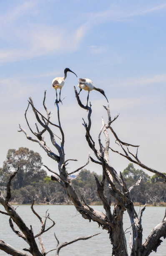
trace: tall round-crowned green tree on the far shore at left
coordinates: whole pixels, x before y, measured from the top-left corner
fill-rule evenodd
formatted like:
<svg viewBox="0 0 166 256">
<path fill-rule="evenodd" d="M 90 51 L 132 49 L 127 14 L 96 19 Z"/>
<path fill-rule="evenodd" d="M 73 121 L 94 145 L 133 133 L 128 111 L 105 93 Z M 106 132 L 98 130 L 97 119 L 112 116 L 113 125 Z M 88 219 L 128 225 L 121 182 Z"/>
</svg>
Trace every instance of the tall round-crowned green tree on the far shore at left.
<svg viewBox="0 0 166 256">
<path fill-rule="evenodd" d="M 3 168 L 0 171 L 0 185 L 6 184 L 9 175 L 14 172 L 18 166 L 19 172 L 13 179 L 12 188 L 20 189 L 27 185 L 43 180 L 47 173 L 41 169 L 42 158 L 39 153 L 29 150 L 28 148 L 19 148 L 18 150 L 9 149 Z"/>
</svg>

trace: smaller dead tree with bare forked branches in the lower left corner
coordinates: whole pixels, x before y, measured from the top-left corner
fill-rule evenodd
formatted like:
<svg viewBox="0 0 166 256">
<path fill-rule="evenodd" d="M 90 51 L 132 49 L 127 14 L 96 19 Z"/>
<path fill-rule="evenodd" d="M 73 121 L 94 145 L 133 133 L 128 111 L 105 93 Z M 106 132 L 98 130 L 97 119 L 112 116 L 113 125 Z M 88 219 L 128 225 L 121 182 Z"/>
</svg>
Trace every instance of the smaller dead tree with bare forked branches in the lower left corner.
<svg viewBox="0 0 166 256">
<path fill-rule="evenodd" d="M 50 218 L 49 213 L 46 211 L 45 213 L 45 220 L 43 220 L 40 215 L 38 215 L 38 213 L 34 210 L 33 205 L 34 205 L 34 199 L 32 200 L 32 205 L 31 205 L 31 210 L 34 213 L 34 215 L 39 219 L 40 224 L 41 224 L 41 228 L 38 232 L 38 234 L 34 235 L 33 233 L 33 228 L 30 225 L 30 228 L 28 228 L 23 219 L 20 218 L 20 216 L 18 215 L 16 209 L 10 205 L 9 200 L 11 198 L 11 193 L 10 193 L 10 184 L 12 179 L 15 177 L 15 175 L 19 172 L 19 167 L 18 170 L 16 172 L 14 172 L 9 180 L 8 180 L 8 184 L 7 184 L 7 194 L 6 197 L 3 197 L 2 193 L 0 192 L 0 203 L 4 206 L 5 208 L 5 212 L 0 211 L 1 214 L 4 215 L 8 215 L 9 216 L 9 224 L 10 224 L 10 228 L 13 230 L 13 232 L 20 238 L 23 238 L 23 240 L 28 243 L 28 248 L 23 248 L 23 251 L 27 251 L 29 253 L 31 253 L 33 256 L 46 256 L 48 255 L 48 253 L 50 253 L 51 251 L 56 251 L 56 256 L 59 256 L 59 251 L 61 248 L 68 246 L 71 243 L 75 243 L 79 240 L 87 240 L 89 238 L 92 238 L 93 236 L 97 236 L 100 233 L 91 235 L 91 236 L 83 236 L 83 237 L 78 237 L 73 239 L 72 241 L 68 241 L 62 244 L 59 244 L 58 238 L 54 236 L 58 242 L 57 247 L 54 249 L 49 250 L 48 252 L 45 251 L 45 247 L 43 245 L 43 241 L 42 241 L 42 235 L 43 233 L 47 232 L 48 230 L 50 230 L 51 228 L 54 227 L 55 222 Z M 47 220 L 51 220 L 52 221 L 52 225 L 50 225 L 50 227 L 46 228 L 46 222 Z M 15 223 L 15 225 L 19 228 L 19 230 L 17 230 L 15 228 L 15 226 L 13 225 L 13 223 Z M 35 241 L 35 238 L 38 238 L 39 244 L 40 244 L 40 249 L 38 248 L 38 245 Z M 18 250 L 17 248 L 14 248 L 13 246 L 10 246 L 8 243 L 5 243 L 4 241 L 0 240 L 0 250 L 13 255 L 13 256 L 29 256 L 30 254 L 27 254 L 23 251 Z"/>
</svg>

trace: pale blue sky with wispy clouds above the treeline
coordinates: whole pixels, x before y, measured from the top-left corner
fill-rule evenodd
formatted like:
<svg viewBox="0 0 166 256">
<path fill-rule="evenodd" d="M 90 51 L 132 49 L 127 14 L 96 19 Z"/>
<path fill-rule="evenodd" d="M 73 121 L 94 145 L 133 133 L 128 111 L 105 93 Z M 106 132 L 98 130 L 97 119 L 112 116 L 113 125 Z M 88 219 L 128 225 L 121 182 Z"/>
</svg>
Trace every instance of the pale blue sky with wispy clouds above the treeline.
<svg viewBox="0 0 166 256">
<path fill-rule="evenodd" d="M 18 130 L 20 124 L 31 135 L 24 117 L 28 97 L 44 113 L 45 90 L 51 121 L 57 123 L 52 80 L 63 77 L 66 67 L 104 90 L 111 116 L 120 113 L 113 123 L 118 137 L 140 145 L 138 158 L 143 164 L 166 172 L 165 0 L 0 1 L 1 167 L 9 148 L 28 147 L 40 153 L 43 164 L 58 171 L 56 162 Z M 93 157 L 82 125 L 87 112 L 78 106 L 73 90 L 78 78 L 68 72 L 61 91 L 61 97 L 65 97 L 60 104 L 65 156 L 78 159 L 69 162 L 68 172 L 85 164 L 89 151 Z M 86 104 L 86 91 L 80 93 L 80 99 Z M 103 108 L 107 102 L 96 91 L 90 92 L 90 101 L 91 134 L 98 147 L 101 117 L 108 121 Z M 28 118 L 35 128 L 31 110 Z M 48 136 L 45 140 L 51 147 Z M 119 149 L 112 136 L 110 146 Z M 129 162 L 110 152 L 110 164 L 119 173 Z M 102 173 L 101 166 L 94 163 L 86 168 Z"/>
</svg>

